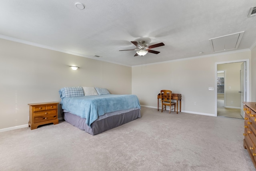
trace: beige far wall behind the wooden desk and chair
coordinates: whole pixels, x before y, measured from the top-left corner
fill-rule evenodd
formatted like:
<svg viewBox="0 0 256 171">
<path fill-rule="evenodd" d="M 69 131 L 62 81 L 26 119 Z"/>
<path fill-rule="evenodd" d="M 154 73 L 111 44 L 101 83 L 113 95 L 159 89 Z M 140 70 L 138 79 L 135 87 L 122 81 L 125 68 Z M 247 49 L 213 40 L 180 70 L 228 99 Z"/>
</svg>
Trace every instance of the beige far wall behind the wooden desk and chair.
<svg viewBox="0 0 256 171">
<path fill-rule="evenodd" d="M 182 94 L 182 110 L 215 115 L 215 64 L 250 59 L 251 52 L 238 52 L 205 58 L 190 58 L 160 64 L 132 67 L 132 93 L 141 105 L 157 107 L 157 94 L 170 89 Z M 196 103 L 196 105 L 195 105 Z"/>
</svg>

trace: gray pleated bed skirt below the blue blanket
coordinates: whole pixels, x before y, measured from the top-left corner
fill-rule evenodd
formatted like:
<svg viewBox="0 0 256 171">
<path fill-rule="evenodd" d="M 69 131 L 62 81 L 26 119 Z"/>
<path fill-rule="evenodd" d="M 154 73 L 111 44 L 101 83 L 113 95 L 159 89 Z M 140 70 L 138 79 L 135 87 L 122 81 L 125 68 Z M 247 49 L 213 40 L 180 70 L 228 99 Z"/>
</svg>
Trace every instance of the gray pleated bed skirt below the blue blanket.
<svg viewBox="0 0 256 171">
<path fill-rule="evenodd" d="M 81 118 L 80 116 L 74 115 L 69 112 L 63 113 L 65 121 L 67 121 L 71 125 L 74 125 L 75 127 L 78 127 L 79 129 L 85 130 L 86 132 L 92 135 L 96 135 L 98 133 L 118 127 L 124 123 L 130 122 L 134 119 L 137 119 L 138 117 L 141 117 L 140 109 L 134 109 L 131 111 L 127 111 L 126 113 L 110 115 L 109 117 L 103 119 L 97 119 L 92 123 L 90 128 L 88 125 L 86 125 L 85 118 Z"/>
</svg>

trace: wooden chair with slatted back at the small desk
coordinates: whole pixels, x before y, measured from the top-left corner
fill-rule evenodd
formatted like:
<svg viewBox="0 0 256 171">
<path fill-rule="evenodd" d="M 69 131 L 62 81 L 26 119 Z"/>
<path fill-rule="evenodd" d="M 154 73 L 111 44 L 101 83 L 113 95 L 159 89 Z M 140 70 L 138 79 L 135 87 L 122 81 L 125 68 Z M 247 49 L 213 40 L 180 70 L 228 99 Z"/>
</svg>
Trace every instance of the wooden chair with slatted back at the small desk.
<svg viewBox="0 0 256 171">
<path fill-rule="evenodd" d="M 171 96 L 172 96 L 172 91 L 171 90 L 161 90 L 160 91 L 160 95 L 161 95 L 161 103 L 162 103 L 162 112 L 163 109 L 166 110 L 166 106 L 170 106 L 170 112 L 171 113 L 171 106 L 174 105 L 174 111 L 176 108 L 176 102 L 172 102 L 171 101 Z"/>
</svg>

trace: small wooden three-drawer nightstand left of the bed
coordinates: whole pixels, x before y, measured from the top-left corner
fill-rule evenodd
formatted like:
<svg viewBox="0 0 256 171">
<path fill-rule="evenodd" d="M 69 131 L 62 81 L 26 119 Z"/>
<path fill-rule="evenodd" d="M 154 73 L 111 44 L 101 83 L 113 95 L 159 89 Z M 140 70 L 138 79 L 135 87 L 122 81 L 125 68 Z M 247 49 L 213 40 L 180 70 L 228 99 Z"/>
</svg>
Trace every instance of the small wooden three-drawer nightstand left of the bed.
<svg viewBox="0 0 256 171">
<path fill-rule="evenodd" d="M 58 124 L 58 102 L 31 103 L 29 105 L 28 127 L 36 129 L 47 123 Z"/>
</svg>

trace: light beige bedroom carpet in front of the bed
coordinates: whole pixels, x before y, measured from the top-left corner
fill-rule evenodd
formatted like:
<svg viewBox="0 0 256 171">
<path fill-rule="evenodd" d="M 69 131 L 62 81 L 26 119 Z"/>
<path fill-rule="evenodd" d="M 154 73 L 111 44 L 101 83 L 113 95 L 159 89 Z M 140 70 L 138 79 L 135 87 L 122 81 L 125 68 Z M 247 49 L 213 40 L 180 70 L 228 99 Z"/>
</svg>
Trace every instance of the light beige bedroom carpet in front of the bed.
<svg viewBox="0 0 256 171">
<path fill-rule="evenodd" d="M 0 133 L 1 171 L 254 171 L 244 120 L 142 107 L 90 135 L 65 121 Z"/>
</svg>

